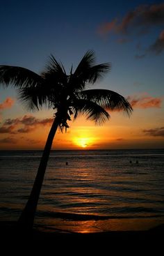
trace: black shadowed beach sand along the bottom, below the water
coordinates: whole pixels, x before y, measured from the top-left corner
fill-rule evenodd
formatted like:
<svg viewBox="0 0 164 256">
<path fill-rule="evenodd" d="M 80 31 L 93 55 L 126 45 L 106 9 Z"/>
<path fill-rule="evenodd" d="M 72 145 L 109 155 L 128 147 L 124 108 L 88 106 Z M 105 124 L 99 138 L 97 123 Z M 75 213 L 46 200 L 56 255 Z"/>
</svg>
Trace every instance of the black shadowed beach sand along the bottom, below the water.
<svg viewBox="0 0 164 256">
<path fill-rule="evenodd" d="M 16 223 L 0 223 L 1 246 L 13 252 L 54 253 L 137 253 L 154 252 L 161 255 L 163 248 L 164 225 L 145 231 L 113 231 L 113 232 L 40 232 L 37 229 L 28 234 L 19 232 Z M 57 250 L 57 254 L 56 254 Z M 98 250 L 98 251 L 97 251 Z M 146 254 L 147 255 L 147 254 Z"/>
</svg>

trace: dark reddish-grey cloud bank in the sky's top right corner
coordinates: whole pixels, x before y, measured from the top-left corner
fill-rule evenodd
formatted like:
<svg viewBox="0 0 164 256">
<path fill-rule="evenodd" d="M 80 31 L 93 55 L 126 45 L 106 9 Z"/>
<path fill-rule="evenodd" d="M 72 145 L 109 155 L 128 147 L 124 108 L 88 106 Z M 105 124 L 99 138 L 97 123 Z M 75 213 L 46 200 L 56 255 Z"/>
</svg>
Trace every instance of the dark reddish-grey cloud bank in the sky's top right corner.
<svg viewBox="0 0 164 256">
<path fill-rule="evenodd" d="M 118 43 L 126 43 L 129 36 L 142 36 L 150 33 L 151 29 L 161 29 L 164 25 L 164 3 L 156 3 L 151 5 L 141 5 L 126 13 L 122 19 L 115 17 L 114 20 L 101 24 L 98 33 L 106 35 L 109 33 L 117 33 L 124 35 L 124 38 L 117 40 Z M 146 48 L 144 54 L 136 54 L 136 59 L 144 58 L 149 52 L 156 55 L 161 54 L 164 50 L 164 31 Z"/>
</svg>

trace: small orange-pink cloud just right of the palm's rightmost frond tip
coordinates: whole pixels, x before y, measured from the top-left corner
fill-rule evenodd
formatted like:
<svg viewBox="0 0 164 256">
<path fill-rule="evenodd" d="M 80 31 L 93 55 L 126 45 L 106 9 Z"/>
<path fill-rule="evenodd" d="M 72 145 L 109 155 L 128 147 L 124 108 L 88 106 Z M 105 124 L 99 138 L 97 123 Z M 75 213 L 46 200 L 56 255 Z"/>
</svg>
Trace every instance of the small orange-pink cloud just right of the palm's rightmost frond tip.
<svg viewBox="0 0 164 256">
<path fill-rule="evenodd" d="M 149 96 L 148 93 L 144 93 L 140 96 L 128 96 L 127 98 L 129 100 L 129 103 L 131 103 L 132 107 L 145 109 L 145 108 L 151 108 L 151 107 L 157 107 L 160 108 L 163 99 L 158 97 L 152 97 Z"/>
</svg>

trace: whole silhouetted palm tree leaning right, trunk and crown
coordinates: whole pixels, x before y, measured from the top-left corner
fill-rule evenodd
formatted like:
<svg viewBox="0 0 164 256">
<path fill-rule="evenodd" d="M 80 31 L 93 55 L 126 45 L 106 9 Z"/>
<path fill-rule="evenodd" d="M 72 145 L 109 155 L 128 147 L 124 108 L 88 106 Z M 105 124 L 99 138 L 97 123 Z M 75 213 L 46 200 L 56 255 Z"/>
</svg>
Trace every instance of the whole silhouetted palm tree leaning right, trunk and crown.
<svg viewBox="0 0 164 256">
<path fill-rule="evenodd" d="M 42 181 L 57 128 L 67 130 L 67 121 L 71 121 L 71 116 L 76 119 L 79 114 L 84 114 L 95 123 L 104 123 L 110 118 L 108 110 L 123 110 L 128 115 L 132 112 L 128 100 L 115 91 L 85 89 L 88 84 L 95 84 L 110 70 L 110 63 L 96 65 L 95 53 L 88 51 L 74 73 L 72 70 L 73 68 L 67 75 L 63 64 L 53 55 L 40 75 L 18 66 L 0 66 L 0 83 L 5 86 L 13 84 L 18 89 L 19 98 L 30 110 L 39 110 L 42 105 L 48 105 L 55 112 L 31 195 L 18 220 L 18 224 L 26 229 L 33 227 Z"/>
</svg>

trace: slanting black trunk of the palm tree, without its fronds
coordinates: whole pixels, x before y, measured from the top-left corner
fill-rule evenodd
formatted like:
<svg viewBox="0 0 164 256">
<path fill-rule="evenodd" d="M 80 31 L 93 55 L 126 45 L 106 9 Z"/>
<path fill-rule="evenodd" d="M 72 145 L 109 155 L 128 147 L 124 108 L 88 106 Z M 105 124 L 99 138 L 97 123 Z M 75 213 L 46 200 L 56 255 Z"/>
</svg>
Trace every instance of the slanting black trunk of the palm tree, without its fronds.
<svg viewBox="0 0 164 256">
<path fill-rule="evenodd" d="M 22 211 L 21 216 L 17 222 L 18 227 L 20 229 L 26 229 L 30 231 L 33 228 L 33 222 L 35 218 L 35 211 L 38 204 L 38 199 L 40 196 L 40 190 L 42 188 L 42 182 L 44 179 L 44 173 L 47 167 L 47 162 L 49 160 L 49 153 L 51 151 L 51 145 L 54 140 L 54 136 L 56 134 L 56 130 L 58 128 L 58 117 L 54 119 L 54 122 L 51 126 L 51 130 L 49 131 L 49 135 L 47 138 L 47 142 L 44 147 L 44 151 L 42 153 L 42 158 L 40 160 L 40 165 L 38 168 L 37 175 L 35 177 L 35 181 L 33 184 L 33 188 L 31 190 L 31 195 L 29 196 L 28 202 L 24 210 Z"/>
</svg>

